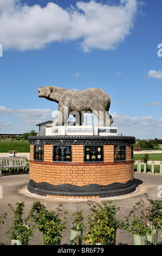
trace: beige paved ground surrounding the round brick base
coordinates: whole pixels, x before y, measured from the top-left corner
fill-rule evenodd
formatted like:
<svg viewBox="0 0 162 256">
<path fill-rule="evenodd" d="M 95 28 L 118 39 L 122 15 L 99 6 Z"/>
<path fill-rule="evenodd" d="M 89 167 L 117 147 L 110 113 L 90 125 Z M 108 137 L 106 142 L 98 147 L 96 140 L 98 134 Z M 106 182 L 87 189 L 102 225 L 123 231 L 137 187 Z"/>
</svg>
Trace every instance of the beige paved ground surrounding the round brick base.
<svg viewBox="0 0 162 256">
<path fill-rule="evenodd" d="M 14 208 L 16 202 L 24 202 L 24 217 L 27 216 L 31 205 L 34 202 L 40 200 L 47 210 L 55 210 L 56 207 L 61 203 L 63 210 L 69 211 L 67 216 L 67 229 L 63 232 L 63 238 L 61 245 L 69 245 L 70 240 L 70 227 L 73 220 L 72 214 L 75 211 L 83 210 L 85 216 L 85 225 L 87 226 L 87 215 L 90 213 L 89 206 L 87 205 L 87 199 L 53 199 L 40 197 L 31 194 L 27 190 L 27 184 L 29 182 L 29 174 L 18 174 L 18 175 L 5 175 L 0 176 L 0 185 L 2 187 L 2 195 L 0 198 L 0 214 L 7 212 L 8 216 L 5 219 L 4 224 L 0 227 L 0 245 L 11 245 L 10 238 L 6 231 L 10 228 L 11 222 L 13 221 L 12 211 L 8 204 L 10 203 Z M 92 202 L 105 202 L 111 200 L 113 204 L 120 207 L 116 217 L 119 220 L 123 220 L 128 214 L 129 210 L 132 209 L 133 205 L 138 202 L 140 198 L 145 198 L 144 193 L 147 193 L 152 199 L 158 199 L 162 197 L 162 175 L 160 174 L 144 174 L 134 173 L 134 183 L 137 190 L 126 196 L 105 198 L 105 199 L 93 199 Z M 30 240 L 29 245 L 41 245 L 41 234 L 36 232 L 33 238 Z M 85 241 L 82 242 L 85 245 Z M 132 234 L 126 231 L 117 230 L 116 232 L 116 245 L 133 245 Z M 162 245 L 162 232 L 158 232 L 158 245 Z"/>
</svg>

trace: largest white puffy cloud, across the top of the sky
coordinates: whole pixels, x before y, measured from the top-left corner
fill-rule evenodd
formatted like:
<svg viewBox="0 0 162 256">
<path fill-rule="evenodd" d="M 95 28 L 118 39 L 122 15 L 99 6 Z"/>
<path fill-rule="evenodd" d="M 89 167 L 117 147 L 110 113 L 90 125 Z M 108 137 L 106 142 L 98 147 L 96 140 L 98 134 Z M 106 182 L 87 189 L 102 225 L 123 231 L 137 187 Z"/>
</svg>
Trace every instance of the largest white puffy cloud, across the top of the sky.
<svg viewBox="0 0 162 256">
<path fill-rule="evenodd" d="M 0 0 L 0 41 L 4 50 L 40 49 L 76 39 L 85 52 L 110 50 L 130 34 L 137 8 L 137 0 L 120 0 L 118 5 L 77 2 L 67 10 L 51 2 L 41 8 Z"/>
</svg>

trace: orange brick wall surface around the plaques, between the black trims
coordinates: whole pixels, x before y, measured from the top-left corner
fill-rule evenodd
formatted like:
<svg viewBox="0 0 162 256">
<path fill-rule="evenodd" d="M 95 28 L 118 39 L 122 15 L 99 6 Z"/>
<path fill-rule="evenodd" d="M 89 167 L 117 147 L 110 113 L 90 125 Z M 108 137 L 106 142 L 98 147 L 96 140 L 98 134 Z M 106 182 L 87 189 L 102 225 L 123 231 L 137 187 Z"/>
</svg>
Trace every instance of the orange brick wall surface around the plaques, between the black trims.
<svg viewBox="0 0 162 256">
<path fill-rule="evenodd" d="M 127 161 L 114 162 L 114 146 L 104 145 L 104 162 L 83 163 L 83 145 L 72 146 L 72 163 L 53 163 L 53 145 L 44 145 L 44 162 L 33 161 L 33 145 L 30 145 L 29 179 L 52 185 L 89 184 L 108 185 L 133 180 L 131 145 L 127 145 Z"/>
</svg>

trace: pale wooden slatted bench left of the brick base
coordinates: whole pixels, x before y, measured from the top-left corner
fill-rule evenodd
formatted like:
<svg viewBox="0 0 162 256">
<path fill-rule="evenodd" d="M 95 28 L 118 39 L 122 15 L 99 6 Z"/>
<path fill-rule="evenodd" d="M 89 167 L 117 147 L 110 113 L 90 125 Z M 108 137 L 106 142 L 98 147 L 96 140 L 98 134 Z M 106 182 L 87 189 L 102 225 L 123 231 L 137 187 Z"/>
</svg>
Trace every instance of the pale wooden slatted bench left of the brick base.
<svg viewBox="0 0 162 256">
<path fill-rule="evenodd" d="M 0 174 L 2 169 L 11 169 L 11 168 L 29 168 L 27 165 L 26 156 L 15 156 L 15 157 L 0 157 Z"/>
</svg>

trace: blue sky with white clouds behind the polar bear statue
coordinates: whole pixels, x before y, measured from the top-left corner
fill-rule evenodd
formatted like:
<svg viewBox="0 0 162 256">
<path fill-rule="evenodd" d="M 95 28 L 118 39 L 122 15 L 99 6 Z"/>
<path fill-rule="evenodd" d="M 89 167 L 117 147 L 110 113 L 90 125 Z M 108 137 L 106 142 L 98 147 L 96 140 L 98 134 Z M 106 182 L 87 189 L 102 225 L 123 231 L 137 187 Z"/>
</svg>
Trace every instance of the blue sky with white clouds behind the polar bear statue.
<svg viewBox="0 0 162 256">
<path fill-rule="evenodd" d="M 57 103 L 37 87 L 94 87 L 111 97 L 119 135 L 162 138 L 161 8 L 159 0 L 0 0 L 0 133 L 37 131 L 54 117 Z"/>
</svg>

